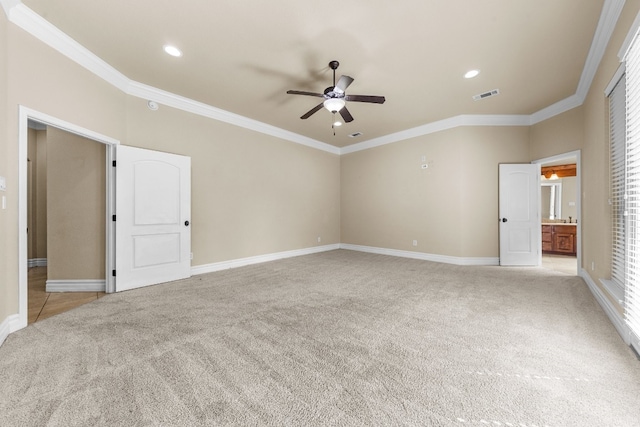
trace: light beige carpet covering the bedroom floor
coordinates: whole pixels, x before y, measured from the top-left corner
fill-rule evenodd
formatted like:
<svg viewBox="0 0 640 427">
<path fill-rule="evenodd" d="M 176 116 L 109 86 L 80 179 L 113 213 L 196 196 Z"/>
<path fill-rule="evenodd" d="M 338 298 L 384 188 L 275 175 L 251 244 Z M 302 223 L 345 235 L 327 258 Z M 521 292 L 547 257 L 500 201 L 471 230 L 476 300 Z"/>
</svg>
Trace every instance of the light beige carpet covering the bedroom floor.
<svg viewBox="0 0 640 427">
<path fill-rule="evenodd" d="M 2 426 L 638 426 L 582 279 L 338 250 L 107 295 L 0 347 Z"/>
</svg>

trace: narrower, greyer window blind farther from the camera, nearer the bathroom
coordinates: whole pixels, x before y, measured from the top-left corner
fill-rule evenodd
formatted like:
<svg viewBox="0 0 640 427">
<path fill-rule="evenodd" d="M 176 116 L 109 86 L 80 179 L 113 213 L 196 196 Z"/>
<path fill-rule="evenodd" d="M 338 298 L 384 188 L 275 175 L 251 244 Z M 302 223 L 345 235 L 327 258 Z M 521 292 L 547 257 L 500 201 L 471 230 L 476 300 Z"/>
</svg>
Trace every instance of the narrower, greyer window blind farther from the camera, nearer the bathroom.
<svg viewBox="0 0 640 427">
<path fill-rule="evenodd" d="M 609 95 L 611 175 L 611 280 L 620 292 L 625 281 L 626 78 L 623 74 Z"/>
</svg>

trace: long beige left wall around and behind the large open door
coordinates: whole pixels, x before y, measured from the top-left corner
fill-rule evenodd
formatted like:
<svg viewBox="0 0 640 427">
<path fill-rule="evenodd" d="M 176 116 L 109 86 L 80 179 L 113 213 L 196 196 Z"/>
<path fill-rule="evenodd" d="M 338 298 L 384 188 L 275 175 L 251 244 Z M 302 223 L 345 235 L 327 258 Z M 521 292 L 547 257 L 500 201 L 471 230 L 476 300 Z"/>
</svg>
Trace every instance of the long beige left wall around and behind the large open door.
<svg viewBox="0 0 640 427">
<path fill-rule="evenodd" d="M 0 20 L 8 41 L 0 90 L 7 88 L 9 106 L 1 110 L 8 126 L 0 171 L 11 185 L 8 209 L 0 212 L 0 319 L 18 311 L 18 105 L 126 145 L 191 156 L 193 265 L 308 248 L 318 237 L 322 245 L 340 241 L 338 156 L 171 108 L 153 113 L 145 100 L 124 95 L 4 15 Z M 55 239 L 51 227 L 49 221 Z"/>
</svg>

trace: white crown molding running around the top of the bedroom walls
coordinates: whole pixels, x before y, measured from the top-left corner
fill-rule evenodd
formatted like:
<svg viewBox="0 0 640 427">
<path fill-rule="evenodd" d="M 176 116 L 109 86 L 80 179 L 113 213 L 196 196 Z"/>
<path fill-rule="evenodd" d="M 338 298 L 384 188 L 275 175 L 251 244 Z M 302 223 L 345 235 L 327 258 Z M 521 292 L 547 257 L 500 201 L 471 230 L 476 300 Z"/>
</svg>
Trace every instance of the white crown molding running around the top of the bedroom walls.
<svg viewBox="0 0 640 427">
<path fill-rule="evenodd" d="M 373 138 L 347 147 L 338 148 L 333 145 L 305 137 L 257 120 L 249 119 L 208 104 L 188 99 L 161 89 L 133 81 L 118 70 L 97 57 L 91 51 L 60 31 L 40 15 L 33 12 L 20 0 L 0 0 L 7 18 L 38 40 L 67 56 L 90 72 L 104 79 L 124 93 L 143 99 L 153 100 L 176 109 L 198 114 L 214 120 L 250 129 L 266 135 L 291 141 L 307 147 L 326 151 L 332 154 L 348 154 L 367 150 L 386 144 L 415 138 L 459 126 L 530 126 L 547 120 L 570 109 L 579 107 L 584 102 L 600 61 L 604 55 L 616 22 L 620 17 L 625 0 L 605 0 L 594 34 L 591 48 L 574 95 L 569 96 L 549 107 L 531 115 L 460 115 L 422 126 Z M 640 15 L 639 15 L 640 16 Z M 636 21 L 640 20 L 640 17 Z M 635 25 L 635 24 L 634 24 Z"/>
</svg>

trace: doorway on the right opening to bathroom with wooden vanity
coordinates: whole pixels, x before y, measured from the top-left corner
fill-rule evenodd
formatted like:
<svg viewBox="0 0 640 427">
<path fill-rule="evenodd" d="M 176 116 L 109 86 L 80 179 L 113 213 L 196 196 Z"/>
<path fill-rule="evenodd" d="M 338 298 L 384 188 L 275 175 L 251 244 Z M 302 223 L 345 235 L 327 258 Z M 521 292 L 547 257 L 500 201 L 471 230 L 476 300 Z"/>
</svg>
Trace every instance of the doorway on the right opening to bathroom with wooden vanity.
<svg viewBox="0 0 640 427">
<path fill-rule="evenodd" d="M 542 267 L 578 275 L 581 265 L 580 151 L 533 163 L 539 163 L 543 173 L 540 185 Z"/>
</svg>

